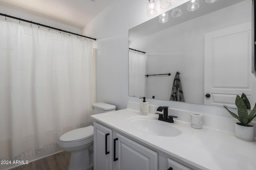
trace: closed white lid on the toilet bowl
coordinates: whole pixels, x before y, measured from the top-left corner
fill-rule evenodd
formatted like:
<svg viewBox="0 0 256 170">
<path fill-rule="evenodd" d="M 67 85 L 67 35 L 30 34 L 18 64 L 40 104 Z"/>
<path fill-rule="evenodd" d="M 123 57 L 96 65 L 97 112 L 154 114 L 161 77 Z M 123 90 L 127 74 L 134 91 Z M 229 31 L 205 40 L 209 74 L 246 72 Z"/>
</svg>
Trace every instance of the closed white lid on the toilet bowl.
<svg viewBox="0 0 256 170">
<path fill-rule="evenodd" d="M 73 141 L 81 141 L 84 139 L 88 139 L 93 136 L 93 126 L 82 127 L 78 129 L 74 129 L 67 133 L 64 133 L 60 137 L 60 141 L 63 142 L 73 142 Z"/>
</svg>

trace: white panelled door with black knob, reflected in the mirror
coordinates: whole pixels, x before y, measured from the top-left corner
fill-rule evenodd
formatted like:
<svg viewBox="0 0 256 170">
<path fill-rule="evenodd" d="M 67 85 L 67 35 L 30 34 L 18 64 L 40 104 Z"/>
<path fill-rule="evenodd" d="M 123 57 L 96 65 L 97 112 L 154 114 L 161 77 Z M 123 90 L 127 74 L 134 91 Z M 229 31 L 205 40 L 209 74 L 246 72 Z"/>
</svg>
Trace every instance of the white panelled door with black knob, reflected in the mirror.
<svg viewBox="0 0 256 170">
<path fill-rule="evenodd" d="M 236 95 L 245 93 L 254 106 L 251 36 L 251 22 L 205 34 L 204 104 L 235 107 Z"/>
</svg>

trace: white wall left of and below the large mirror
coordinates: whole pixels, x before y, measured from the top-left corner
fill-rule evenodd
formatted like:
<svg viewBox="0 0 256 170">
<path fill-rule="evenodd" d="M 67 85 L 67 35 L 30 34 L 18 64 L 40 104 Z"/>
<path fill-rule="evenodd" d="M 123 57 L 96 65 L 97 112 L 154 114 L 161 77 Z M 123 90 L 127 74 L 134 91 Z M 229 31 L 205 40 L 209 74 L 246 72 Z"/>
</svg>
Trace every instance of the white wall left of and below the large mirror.
<svg viewBox="0 0 256 170">
<path fill-rule="evenodd" d="M 127 101 L 142 101 L 128 96 L 128 31 L 149 19 L 146 17 L 146 0 L 116 0 L 84 27 L 83 33 L 90 33 L 97 38 L 94 44 L 97 48 L 97 102 L 107 102 L 116 105 L 117 109 L 124 109 Z M 157 106 L 230 117 L 223 107 L 154 99 L 148 99 L 148 102 Z"/>
</svg>

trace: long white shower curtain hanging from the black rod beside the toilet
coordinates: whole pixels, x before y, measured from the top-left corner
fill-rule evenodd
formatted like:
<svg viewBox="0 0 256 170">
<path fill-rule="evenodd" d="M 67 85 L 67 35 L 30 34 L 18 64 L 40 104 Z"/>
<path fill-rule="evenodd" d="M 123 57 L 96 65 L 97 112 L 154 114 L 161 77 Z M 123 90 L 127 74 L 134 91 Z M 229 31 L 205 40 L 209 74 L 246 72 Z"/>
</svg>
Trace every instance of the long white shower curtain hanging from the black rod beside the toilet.
<svg viewBox="0 0 256 170">
<path fill-rule="evenodd" d="M 92 42 L 9 18 L 0 28 L 0 159 L 26 160 L 89 125 Z"/>
</svg>

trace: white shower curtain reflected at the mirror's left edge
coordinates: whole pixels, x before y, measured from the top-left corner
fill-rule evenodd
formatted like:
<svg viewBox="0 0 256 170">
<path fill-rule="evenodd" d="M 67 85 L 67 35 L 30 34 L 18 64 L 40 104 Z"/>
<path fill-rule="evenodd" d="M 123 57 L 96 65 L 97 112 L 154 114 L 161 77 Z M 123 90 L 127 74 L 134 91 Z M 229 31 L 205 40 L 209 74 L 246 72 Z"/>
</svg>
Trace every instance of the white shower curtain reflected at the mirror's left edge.
<svg viewBox="0 0 256 170">
<path fill-rule="evenodd" d="M 129 96 L 146 97 L 146 55 L 129 51 Z"/>
</svg>

